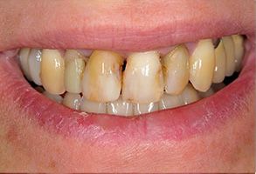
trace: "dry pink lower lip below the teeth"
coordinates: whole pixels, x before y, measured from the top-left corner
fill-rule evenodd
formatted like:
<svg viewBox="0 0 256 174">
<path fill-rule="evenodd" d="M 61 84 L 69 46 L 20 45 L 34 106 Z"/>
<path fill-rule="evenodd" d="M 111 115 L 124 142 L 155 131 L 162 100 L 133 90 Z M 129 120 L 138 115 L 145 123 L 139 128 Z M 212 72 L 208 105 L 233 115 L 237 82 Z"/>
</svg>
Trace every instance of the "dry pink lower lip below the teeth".
<svg viewBox="0 0 256 174">
<path fill-rule="evenodd" d="M 127 138 L 181 140 L 218 129 L 220 124 L 239 117 L 254 90 L 254 51 L 246 55 L 240 76 L 211 97 L 171 110 L 159 110 L 139 117 L 86 114 L 70 110 L 39 94 L 24 80 L 14 58 L 0 57 L 0 96 L 10 98 L 10 105 L 20 106 L 17 117 L 31 117 L 46 131 L 63 136 L 122 141 Z M 8 85 L 6 85 L 8 84 Z"/>
</svg>

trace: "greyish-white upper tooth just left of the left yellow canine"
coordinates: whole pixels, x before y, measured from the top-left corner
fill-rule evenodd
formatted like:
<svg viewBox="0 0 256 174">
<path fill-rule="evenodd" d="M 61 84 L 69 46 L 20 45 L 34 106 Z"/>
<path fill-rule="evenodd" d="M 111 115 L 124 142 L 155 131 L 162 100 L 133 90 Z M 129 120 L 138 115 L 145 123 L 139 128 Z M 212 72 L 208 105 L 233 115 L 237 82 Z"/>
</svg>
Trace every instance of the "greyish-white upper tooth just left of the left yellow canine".
<svg viewBox="0 0 256 174">
<path fill-rule="evenodd" d="M 38 49 L 31 49 L 31 53 L 28 59 L 29 70 L 31 74 L 31 79 L 35 84 L 42 85 L 40 71 L 41 71 L 41 60 L 42 51 Z"/>
</svg>

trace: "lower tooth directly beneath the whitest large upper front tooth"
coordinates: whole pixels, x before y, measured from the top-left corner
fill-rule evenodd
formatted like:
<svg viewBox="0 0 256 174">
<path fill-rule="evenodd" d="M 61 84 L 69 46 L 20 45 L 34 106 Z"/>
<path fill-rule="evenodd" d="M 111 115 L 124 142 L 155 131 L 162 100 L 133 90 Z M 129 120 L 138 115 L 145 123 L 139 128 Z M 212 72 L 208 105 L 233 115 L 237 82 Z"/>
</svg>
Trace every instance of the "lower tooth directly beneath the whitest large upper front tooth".
<svg viewBox="0 0 256 174">
<path fill-rule="evenodd" d="M 158 110 L 158 103 L 151 102 L 149 104 L 135 104 L 134 105 L 134 114 L 140 115 L 140 114 L 146 114 L 149 112 L 153 112 Z"/>
</svg>

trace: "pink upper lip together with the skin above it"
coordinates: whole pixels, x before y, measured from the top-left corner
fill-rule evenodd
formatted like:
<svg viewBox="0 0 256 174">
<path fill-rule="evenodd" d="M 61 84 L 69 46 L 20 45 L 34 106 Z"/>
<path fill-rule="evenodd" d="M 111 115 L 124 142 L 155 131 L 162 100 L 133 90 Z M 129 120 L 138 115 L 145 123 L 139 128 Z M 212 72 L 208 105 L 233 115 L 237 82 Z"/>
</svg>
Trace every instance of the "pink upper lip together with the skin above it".
<svg viewBox="0 0 256 174">
<path fill-rule="evenodd" d="M 237 1 L 210 1 L 207 5 L 190 1 L 187 5 L 179 5 L 179 1 L 139 3 L 143 2 L 114 8 L 111 3 L 100 7 L 82 3 L 71 10 L 58 2 L 21 7 L 8 3 L 15 13 L 12 15 L 6 11 L 10 8 L 0 5 L 0 51 L 20 47 L 150 50 L 205 37 L 253 33 L 253 1 L 243 1 L 246 5 Z M 241 11 L 225 8 L 223 3 L 241 5 Z M 10 23 L 13 16 L 16 20 Z"/>
</svg>

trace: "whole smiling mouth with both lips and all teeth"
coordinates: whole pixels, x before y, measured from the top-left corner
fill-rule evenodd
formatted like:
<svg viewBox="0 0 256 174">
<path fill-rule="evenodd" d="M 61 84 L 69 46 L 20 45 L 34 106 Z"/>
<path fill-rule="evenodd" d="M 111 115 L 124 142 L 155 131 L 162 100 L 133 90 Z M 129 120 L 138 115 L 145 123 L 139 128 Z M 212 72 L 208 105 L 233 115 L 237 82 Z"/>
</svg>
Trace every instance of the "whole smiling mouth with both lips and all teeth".
<svg viewBox="0 0 256 174">
<path fill-rule="evenodd" d="M 20 27 L 0 44 L 0 50 L 19 49 L 1 53 L 0 79 L 8 84 L 0 84 L 1 94 L 48 131 L 66 136 L 166 140 L 218 129 L 239 117 L 231 112 L 253 95 L 252 23 L 242 17 L 235 18 L 239 26 L 225 17 L 209 22 L 200 13 L 191 20 L 185 13 L 154 26 L 121 18 L 115 25 L 87 19 L 89 26 L 77 26 L 67 17 L 69 26 Z"/>
</svg>

